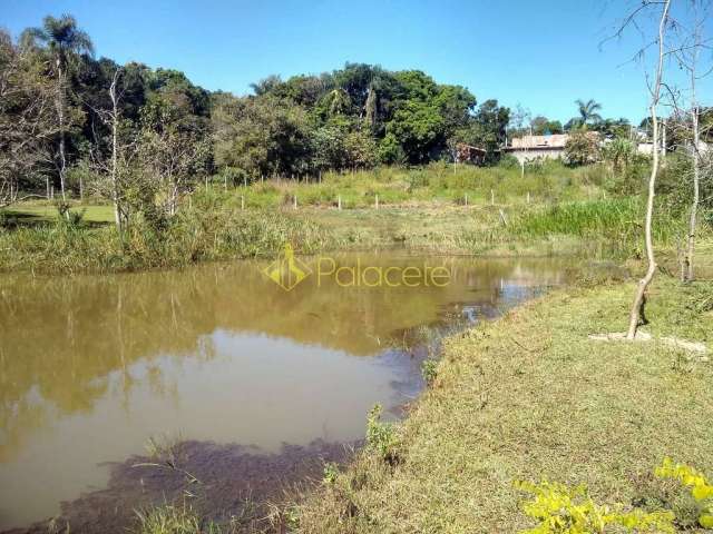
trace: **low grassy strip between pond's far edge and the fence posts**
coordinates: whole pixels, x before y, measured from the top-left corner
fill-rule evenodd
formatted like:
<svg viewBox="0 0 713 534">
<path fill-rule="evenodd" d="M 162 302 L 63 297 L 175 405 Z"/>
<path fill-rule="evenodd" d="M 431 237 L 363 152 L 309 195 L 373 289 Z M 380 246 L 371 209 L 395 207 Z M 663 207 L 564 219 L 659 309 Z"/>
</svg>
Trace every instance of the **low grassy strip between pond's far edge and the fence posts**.
<svg viewBox="0 0 713 534">
<path fill-rule="evenodd" d="M 408 247 L 436 254 L 619 259 L 643 256 L 643 205 L 636 198 L 545 206 L 235 209 L 232 197 L 197 195 L 162 228 L 140 220 L 120 237 L 111 225 L 53 219 L 0 229 L 0 270 L 120 271 L 204 260 L 271 257 L 290 241 L 300 254 Z M 84 208 L 77 208 L 84 209 Z M 661 209 L 654 226 L 666 266 L 676 269 L 685 220 Z M 704 266 L 711 229 L 701 225 Z M 709 255 L 710 256 L 710 255 Z"/>
</svg>

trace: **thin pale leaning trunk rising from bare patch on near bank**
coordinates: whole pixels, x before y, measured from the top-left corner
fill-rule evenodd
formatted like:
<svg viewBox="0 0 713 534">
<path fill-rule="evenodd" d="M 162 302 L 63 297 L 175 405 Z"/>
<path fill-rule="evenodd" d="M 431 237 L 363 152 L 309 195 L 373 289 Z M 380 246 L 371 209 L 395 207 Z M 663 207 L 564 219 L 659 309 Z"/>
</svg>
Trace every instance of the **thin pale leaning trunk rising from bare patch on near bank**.
<svg viewBox="0 0 713 534">
<path fill-rule="evenodd" d="M 638 281 L 634 301 L 632 303 L 632 310 L 629 313 L 628 330 L 626 333 L 627 339 L 634 339 L 636 337 L 636 329 L 638 328 L 638 322 L 644 316 L 644 305 L 646 303 L 646 289 L 656 274 L 656 258 L 654 257 L 654 243 L 652 238 L 652 221 L 654 217 L 654 199 L 656 198 L 656 178 L 658 177 L 658 116 L 656 113 L 656 107 L 661 99 L 661 82 L 664 70 L 664 36 L 666 32 L 666 23 L 668 19 L 668 8 L 671 7 L 671 0 L 665 0 L 663 12 L 661 14 L 661 21 L 658 23 L 658 62 L 656 66 L 656 79 L 652 88 L 651 98 L 651 119 L 653 128 L 653 161 L 651 168 L 651 176 L 648 178 L 648 197 L 646 199 L 646 222 L 644 227 L 645 243 L 646 243 L 646 259 L 648 261 L 648 268 L 646 274 Z"/>
</svg>

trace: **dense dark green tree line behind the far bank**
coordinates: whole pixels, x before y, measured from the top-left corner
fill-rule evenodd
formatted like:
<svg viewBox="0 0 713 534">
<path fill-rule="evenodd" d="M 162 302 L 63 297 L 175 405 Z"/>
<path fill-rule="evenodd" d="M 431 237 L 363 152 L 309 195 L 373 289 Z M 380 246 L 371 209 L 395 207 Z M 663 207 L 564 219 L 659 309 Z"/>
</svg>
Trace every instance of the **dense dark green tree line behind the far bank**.
<svg viewBox="0 0 713 534">
<path fill-rule="evenodd" d="M 245 97 L 211 92 L 177 70 L 95 59 L 69 14 L 17 40 L 0 31 L 0 198 L 111 196 L 120 185 L 129 201 L 140 181 L 141 195 L 164 189 L 170 209 L 187 182 L 216 172 L 255 180 L 418 165 L 455 142 L 482 146 L 492 161 L 510 118 L 497 100 L 478 107 L 468 89 L 422 71 L 364 63 L 252 87 Z M 114 185 L 92 180 L 97 172 Z"/>
</svg>

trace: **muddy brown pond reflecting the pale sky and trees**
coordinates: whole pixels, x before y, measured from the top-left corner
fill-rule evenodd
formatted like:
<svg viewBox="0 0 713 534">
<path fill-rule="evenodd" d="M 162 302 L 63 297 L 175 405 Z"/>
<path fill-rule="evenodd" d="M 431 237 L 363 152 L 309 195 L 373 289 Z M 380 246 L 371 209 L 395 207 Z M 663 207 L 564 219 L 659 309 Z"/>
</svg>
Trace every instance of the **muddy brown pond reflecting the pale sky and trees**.
<svg viewBox="0 0 713 534">
<path fill-rule="evenodd" d="M 439 335 L 569 271 L 564 260 L 404 253 L 335 261 L 445 266 L 450 283 L 342 287 L 313 275 L 285 291 L 257 261 L 0 275 L 0 531 L 61 517 L 71 532 L 126 532 L 136 510 L 186 498 L 180 473 L 135 467 L 152 436 L 172 436 L 202 481 L 198 506 L 234 514 L 343 457 L 375 403 L 398 417 Z"/>
</svg>

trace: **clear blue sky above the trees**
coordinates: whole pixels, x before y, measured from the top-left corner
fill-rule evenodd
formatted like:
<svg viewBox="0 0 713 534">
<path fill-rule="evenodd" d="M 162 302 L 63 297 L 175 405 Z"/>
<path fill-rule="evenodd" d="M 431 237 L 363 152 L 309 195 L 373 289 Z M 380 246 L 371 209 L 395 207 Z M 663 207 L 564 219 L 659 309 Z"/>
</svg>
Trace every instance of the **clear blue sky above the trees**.
<svg viewBox="0 0 713 534">
<path fill-rule="evenodd" d="M 625 0 L 1 0 L 0 26 L 18 34 L 45 14 L 72 13 L 97 55 L 183 70 L 206 89 L 248 92 L 345 61 L 421 69 L 468 87 L 479 101 L 520 103 L 567 120 L 594 98 L 605 117 L 646 113 L 641 46 L 631 33 L 599 49 Z"/>
</svg>

